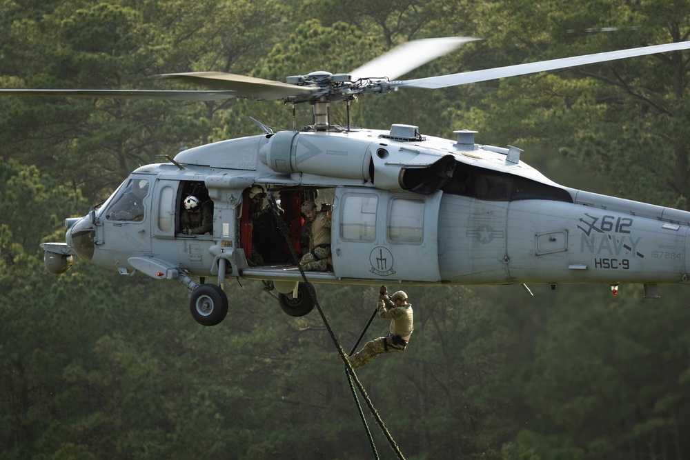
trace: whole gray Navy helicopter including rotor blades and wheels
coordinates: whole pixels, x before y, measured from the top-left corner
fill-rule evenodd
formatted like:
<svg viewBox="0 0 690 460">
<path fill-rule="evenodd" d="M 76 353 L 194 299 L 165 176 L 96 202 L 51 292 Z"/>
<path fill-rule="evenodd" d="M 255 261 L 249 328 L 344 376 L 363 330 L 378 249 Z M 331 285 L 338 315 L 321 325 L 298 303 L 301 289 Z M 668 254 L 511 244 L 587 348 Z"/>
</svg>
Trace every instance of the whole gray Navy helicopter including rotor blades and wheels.
<svg viewBox="0 0 690 460">
<path fill-rule="evenodd" d="M 66 219 L 66 242 L 41 244 L 46 268 L 67 272 L 76 255 L 121 275 L 177 281 L 204 326 L 226 317 L 222 286 L 230 277 L 262 281 L 293 317 L 315 305 L 314 286 L 306 283 L 520 284 L 528 292 L 528 283 L 607 283 L 614 294 L 620 283 L 642 283 L 646 298 L 659 297 L 659 283 L 689 283 L 690 212 L 560 186 L 524 163 L 520 148 L 475 143 L 472 130 L 442 139 L 405 123 L 353 128 L 349 104 L 363 94 L 686 50 L 690 41 L 395 80 L 473 40 L 410 41 L 348 74 L 317 71 L 285 82 L 186 72 L 155 78 L 205 89 L 0 90 L 4 96 L 244 98 L 282 100 L 293 110 L 298 103 L 313 106 L 313 125 L 301 130 L 273 132 L 254 120 L 262 134 L 137 168 L 86 216 Z M 330 123 L 336 101 L 348 106 L 348 126 Z M 300 244 L 302 206 L 324 196 L 332 197 L 322 205 L 331 223 L 331 259 L 307 280 L 295 259 L 308 251 Z M 184 228 L 188 197 L 211 207 L 208 231 Z"/>
</svg>

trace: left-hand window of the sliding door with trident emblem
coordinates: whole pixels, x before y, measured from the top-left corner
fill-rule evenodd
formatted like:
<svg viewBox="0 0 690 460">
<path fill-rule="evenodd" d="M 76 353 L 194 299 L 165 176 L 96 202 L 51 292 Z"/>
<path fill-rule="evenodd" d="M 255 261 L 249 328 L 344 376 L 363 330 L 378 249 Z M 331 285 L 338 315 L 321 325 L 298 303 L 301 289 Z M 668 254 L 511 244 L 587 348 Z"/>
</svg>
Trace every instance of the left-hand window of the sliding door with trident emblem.
<svg viewBox="0 0 690 460">
<path fill-rule="evenodd" d="M 343 199 L 340 238 L 346 241 L 374 241 L 376 206 L 373 194 L 346 195 Z"/>
</svg>

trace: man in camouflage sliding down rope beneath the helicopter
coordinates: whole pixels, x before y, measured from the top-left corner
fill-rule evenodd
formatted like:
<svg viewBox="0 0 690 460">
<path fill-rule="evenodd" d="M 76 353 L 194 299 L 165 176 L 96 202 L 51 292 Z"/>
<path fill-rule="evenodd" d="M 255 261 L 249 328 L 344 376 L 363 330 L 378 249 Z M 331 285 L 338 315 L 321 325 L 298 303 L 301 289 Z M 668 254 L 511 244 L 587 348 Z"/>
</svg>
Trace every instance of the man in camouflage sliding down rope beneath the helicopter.
<svg viewBox="0 0 690 460">
<path fill-rule="evenodd" d="M 391 320 L 391 333 L 366 343 L 351 357 L 348 357 L 353 369 L 360 368 L 382 353 L 405 351 L 414 330 L 411 304 L 407 303 L 407 294 L 395 292 L 388 298 L 386 286 L 379 289 L 379 301 L 376 306 L 379 317 Z M 338 355 L 340 358 L 340 355 Z"/>
</svg>

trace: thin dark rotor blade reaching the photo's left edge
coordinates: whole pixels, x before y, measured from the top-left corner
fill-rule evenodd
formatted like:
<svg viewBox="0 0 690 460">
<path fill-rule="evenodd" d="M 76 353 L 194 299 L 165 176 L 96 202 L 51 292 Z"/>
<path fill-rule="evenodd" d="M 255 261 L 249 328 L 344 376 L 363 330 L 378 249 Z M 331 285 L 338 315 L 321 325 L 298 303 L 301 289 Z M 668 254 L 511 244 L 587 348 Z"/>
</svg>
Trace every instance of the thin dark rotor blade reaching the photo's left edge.
<svg viewBox="0 0 690 460">
<path fill-rule="evenodd" d="M 157 99 L 167 101 L 219 101 L 233 99 L 233 91 L 155 90 L 0 90 L 0 96 L 110 97 L 112 99 Z"/>
</svg>

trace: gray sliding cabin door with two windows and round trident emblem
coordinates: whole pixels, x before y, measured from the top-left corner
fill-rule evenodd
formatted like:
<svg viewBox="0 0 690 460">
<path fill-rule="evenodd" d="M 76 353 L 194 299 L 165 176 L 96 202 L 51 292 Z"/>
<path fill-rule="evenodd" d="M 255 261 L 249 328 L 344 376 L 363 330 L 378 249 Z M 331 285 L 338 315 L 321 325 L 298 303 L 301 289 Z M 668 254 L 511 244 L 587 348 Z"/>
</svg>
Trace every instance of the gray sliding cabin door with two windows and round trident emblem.
<svg viewBox="0 0 690 460">
<path fill-rule="evenodd" d="M 331 243 L 335 275 L 382 282 L 440 281 L 441 195 L 337 188 Z"/>
</svg>

